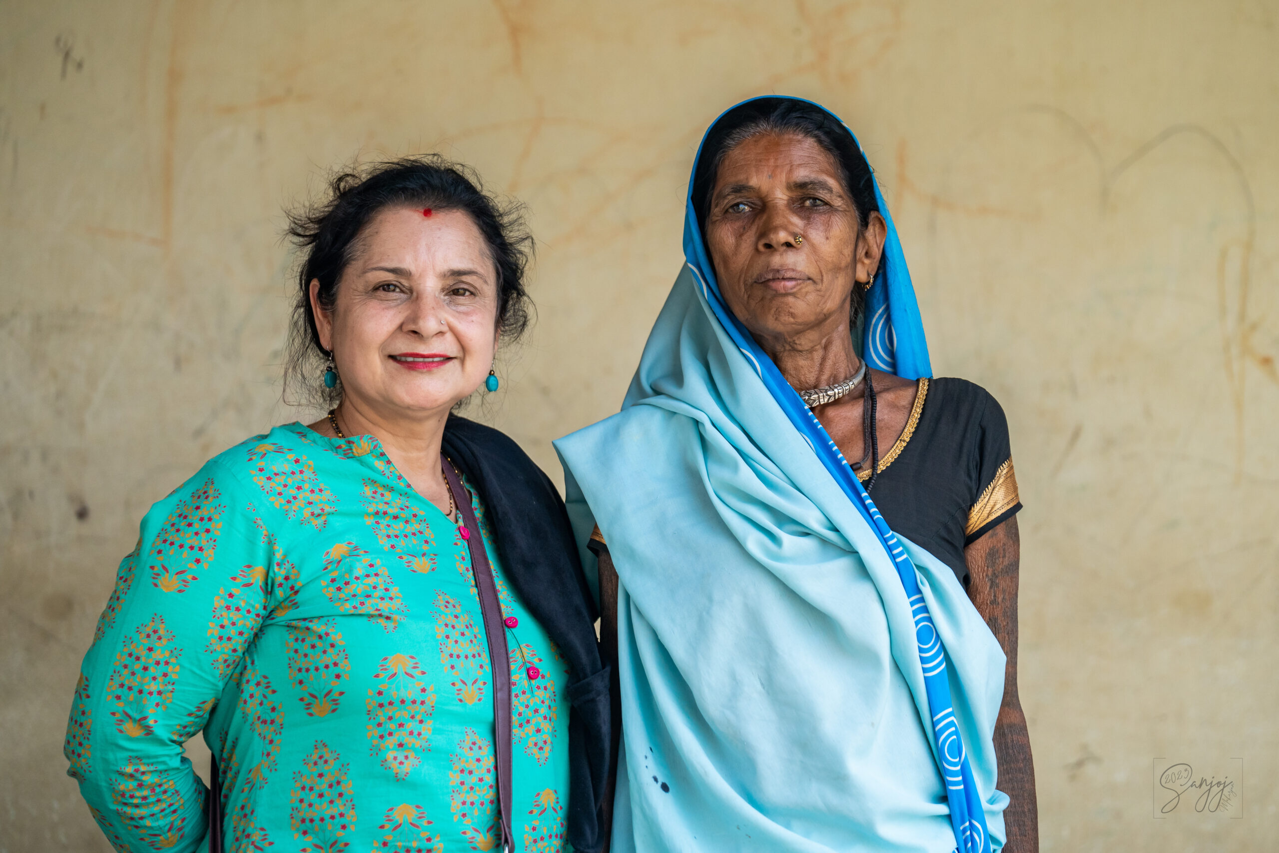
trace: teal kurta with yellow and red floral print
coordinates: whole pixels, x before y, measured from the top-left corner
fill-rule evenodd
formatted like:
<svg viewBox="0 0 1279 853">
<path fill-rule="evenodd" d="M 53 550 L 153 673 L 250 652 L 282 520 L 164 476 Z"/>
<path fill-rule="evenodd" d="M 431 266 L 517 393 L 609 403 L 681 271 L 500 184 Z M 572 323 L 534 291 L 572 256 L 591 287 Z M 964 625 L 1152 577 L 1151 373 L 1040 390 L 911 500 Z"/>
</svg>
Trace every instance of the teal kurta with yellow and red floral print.
<svg viewBox="0 0 1279 853">
<path fill-rule="evenodd" d="M 503 577 L 517 849 L 565 848 L 567 670 Z M 124 558 L 65 753 L 116 850 L 202 850 L 219 757 L 229 852 L 496 845 L 492 665 L 469 554 L 372 436 L 293 423 L 210 460 Z"/>
</svg>

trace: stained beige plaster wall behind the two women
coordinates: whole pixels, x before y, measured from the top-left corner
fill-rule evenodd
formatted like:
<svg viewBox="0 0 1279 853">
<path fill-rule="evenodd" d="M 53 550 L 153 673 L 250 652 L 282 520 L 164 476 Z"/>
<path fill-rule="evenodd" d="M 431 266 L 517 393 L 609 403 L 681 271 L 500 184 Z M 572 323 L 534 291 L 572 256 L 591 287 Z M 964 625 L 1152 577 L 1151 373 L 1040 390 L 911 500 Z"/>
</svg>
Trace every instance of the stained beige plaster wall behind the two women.
<svg viewBox="0 0 1279 853">
<path fill-rule="evenodd" d="M 1274 849 L 1276 22 L 1274 0 L 0 3 L 0 852 L 107 849 L 61 738 L 116 563 L 203 459 L 298 417 L 281 205 L 418 151 L 527 201 L 540 322 L 480 414 L 558 477 L 550 440 L 615 411 L 679 267 L 701 132 L 767 92 L 858 130 L 938 375 L 1008 412 L 1044 849 Z M 1155 820 L 1156 757 L 1242 757 L 1242 817 Z"/>
</svg>

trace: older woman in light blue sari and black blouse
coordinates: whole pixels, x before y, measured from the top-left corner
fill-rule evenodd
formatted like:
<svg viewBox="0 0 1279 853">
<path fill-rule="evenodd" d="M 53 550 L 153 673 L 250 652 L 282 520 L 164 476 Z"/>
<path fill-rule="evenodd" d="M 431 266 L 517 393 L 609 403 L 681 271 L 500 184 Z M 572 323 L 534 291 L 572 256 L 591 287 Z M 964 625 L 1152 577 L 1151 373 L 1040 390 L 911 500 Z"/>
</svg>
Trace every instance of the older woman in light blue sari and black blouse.
<svg viewBox="0 0 1279 853">
<path fill-rule="evenodd" d="M 615 650 L 613 849 L 1036 850 L 1007 422 L 930 381 L 852 133 L 725 113 L 684 252 L 623 411 L 556 442 Z"/>
</svg>

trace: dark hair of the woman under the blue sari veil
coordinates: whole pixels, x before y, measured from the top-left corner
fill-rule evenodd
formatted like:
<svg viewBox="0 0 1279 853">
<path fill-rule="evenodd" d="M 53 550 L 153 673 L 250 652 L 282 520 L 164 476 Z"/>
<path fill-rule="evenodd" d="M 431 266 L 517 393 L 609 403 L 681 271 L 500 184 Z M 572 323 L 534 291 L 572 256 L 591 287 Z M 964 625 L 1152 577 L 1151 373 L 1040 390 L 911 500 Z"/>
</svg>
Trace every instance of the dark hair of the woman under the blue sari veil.
<svg viewBox="0 0 1279 853">
<path fill-rule="evenodd" d="M 839 119 L 808 101 L 760 97 L 729 110 L 706 132 L 706 141 L 702 143 L 702 152 L 693 170 L 693 205 L 703 240 L 711 193 L 715 192 L 715 180 L 724 157 L 747 139 L 762 134 L 807 137 L 834 157 L 844 191 L 853 200 L 859 230 L 866 229 L 871 212 L 880 212 L 871 164 L 866 161 L 853 134 Z M 885 269 L 886 263 L 888 258 L 881 258 L 880 269 Z M 849 309 L 853 326 L 861 317 L 865 297 L 863 290 L 853 288 Z"/>
</svg>

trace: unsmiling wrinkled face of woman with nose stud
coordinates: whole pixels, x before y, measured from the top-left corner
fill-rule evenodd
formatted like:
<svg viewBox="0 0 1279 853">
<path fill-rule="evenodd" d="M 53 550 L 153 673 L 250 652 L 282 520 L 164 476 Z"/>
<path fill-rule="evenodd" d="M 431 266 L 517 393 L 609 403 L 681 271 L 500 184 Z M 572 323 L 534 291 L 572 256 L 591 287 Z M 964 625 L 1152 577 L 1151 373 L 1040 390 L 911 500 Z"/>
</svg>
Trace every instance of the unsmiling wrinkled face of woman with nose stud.
<svg viewBox="0 0 1279 853">
<path fill-rule="evenodd" d="M 724 301 L 765 347 L 847 325 L 854 283 L 879 260 L 835 159 L 798 134 L 751 137 L 724 157 L 706 237 Z"/>
</svg>

